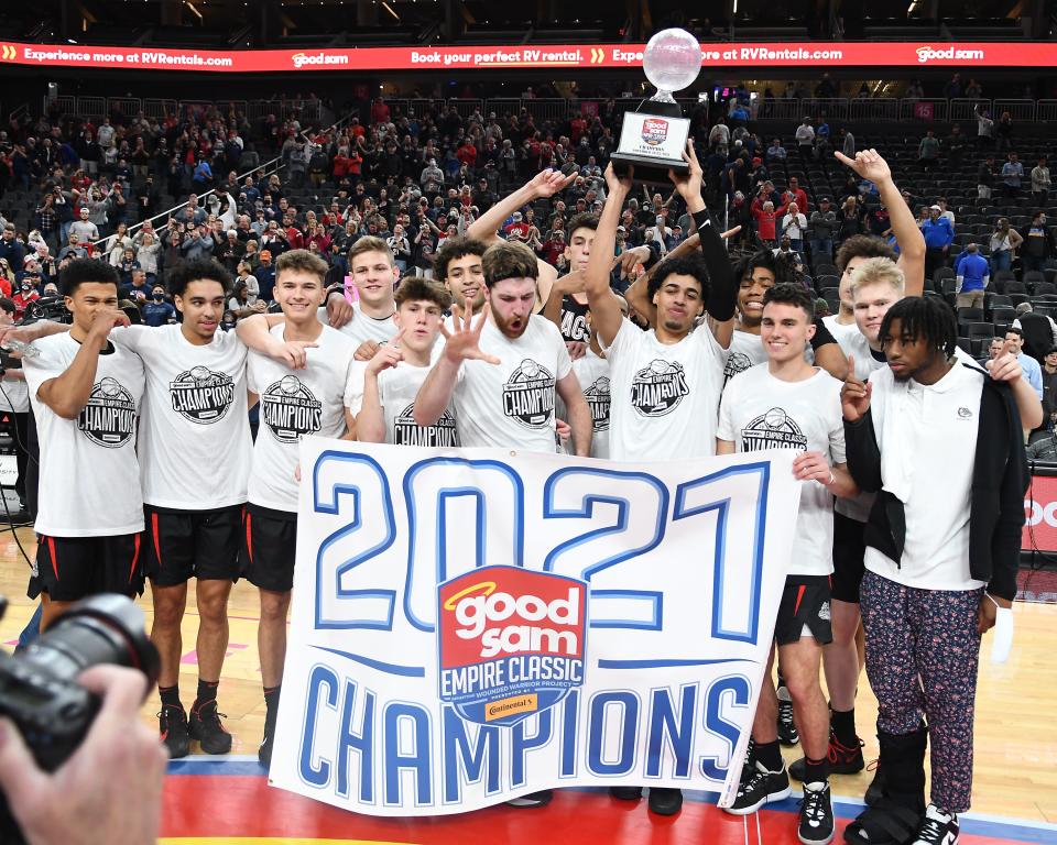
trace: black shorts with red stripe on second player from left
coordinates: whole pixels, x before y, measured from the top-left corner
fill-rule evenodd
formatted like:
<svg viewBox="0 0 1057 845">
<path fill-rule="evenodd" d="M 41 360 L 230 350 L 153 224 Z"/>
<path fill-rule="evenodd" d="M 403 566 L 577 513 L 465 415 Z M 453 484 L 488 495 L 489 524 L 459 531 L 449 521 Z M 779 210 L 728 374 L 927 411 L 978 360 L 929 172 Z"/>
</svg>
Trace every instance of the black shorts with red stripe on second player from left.
<svg viewBox="0 0 1057 845">
<path fill-rule="evenodd" d="M 159 586 L 239 580 L 242 505 L 215 511 L 172 511 L 143 506 L 146 519 L 145 571 Z"/>
</svg>

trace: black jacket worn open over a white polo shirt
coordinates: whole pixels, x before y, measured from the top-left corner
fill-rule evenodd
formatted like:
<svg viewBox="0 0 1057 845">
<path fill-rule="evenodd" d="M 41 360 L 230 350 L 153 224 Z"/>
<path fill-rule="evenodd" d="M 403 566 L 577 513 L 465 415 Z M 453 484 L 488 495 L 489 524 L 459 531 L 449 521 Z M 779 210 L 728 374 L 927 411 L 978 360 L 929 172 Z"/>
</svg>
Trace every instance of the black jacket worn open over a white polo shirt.
<svg viewBox="0 0 1057 845">
<path fill-rule="evenodd" d="M 1021 415 L 1009 385 L 984 378 L 979 420 L 969 513 L 969 572 L 988 583 L 988 592 L 1012 601 L 1016 595 L 1028 470 Z M 882 490 L 881 451 L 870 411 L 858 422 L 844 421 L 844 441 L 848 469 L 856 483 L 861 490 L 878 493 L 867 523 L 865 542 L 898 563 L 906 541 L 906 515 L 903 503 Z M 935 495 L 945 495 L 941 481 Z"/>
</svg>

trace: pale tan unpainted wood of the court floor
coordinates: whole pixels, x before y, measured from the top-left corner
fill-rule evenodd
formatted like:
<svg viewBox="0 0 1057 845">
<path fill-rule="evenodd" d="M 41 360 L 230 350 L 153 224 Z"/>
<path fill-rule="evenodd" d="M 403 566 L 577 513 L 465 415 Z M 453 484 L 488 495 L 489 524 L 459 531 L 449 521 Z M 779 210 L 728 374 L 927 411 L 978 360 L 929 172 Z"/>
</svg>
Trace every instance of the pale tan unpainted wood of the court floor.
<svg viewBox="0 0 1057 845">
<path fill-rule="evenodd" d="M 26 552 L 32 557 L 35 553 L 32 531 L 20 529 L 19 537 Z M 9 610 L 7 617 L 0 622 L 0 640 L 7 644 L 7 648 L 13 645 L 34 610 L 33 604 L 25 597 L 28 575 L 29 564 L 21 557 L 11 534 L 4 533 L 0 536 L 0 592 L 8 597 Z M 149 593 L 141 604 L 150 626 Z M 257 659 L 257 594 L 249 584 L 240 582 L 231 595 L 230 646 L 219 691 L 220 710 L 227 714 L 225 722 L 235 735 L 233 755 L 254 755 L 263 728 L 264 703 Z M 972 810 L 976 814 L 1057 824 L 1057 605 L 1017 603 L 1014 618 L 1016 636 L 1013 655 L 1007 663 L 991 663 L 990 639 L 984 640 L 977 694 Z M 184 656 L 181 671 L 181 691 L 185 704 L 189 704 L 194 698 L 197 681 L 194 650 L 196 630 L 197 615 L 192 601 L 184 621 Z M 143 720 L 155 726 L 157 707 L 155 694 L 144 704 L 142 711 Z M 864 753 L 868 760 L 874 759 L 878 754 L 876 738 L 873 736 L 875 716 L 876 703 L 863 677 L 857 722 L 859 733 L 867 743 Z M 789 759 L 799 756 L 799 748 L 787 749 L 787 751 Z M 186 765 L 181 768 L 174 764 L 174 775 L 182 771 L 197 773 L 209 771 L 205 759 L 199 762 L 197 768 L 187 768 Z M 238 769 L 236 773 L 249 772 L 263 783 L 260 771 L 255 770 L 254 766 L 255 764 L 248 759 L 236 762 Z M 232 773 L 236 769 L 229 767 L 225 771 Z M 872 778 L 870 771 L 858 776 L 835 776 L 833 794 L 860 799 L 870 778 Z M 182 779 L 174 778 L 174 780 Z M 238 778 L 232 779 L 232 786 L 233 780 Z M 177 788 L 174 787 L 174 789 Z M 274 793 L 275 790 L 270 792 Z M 192 831 L 172 830 L 171 833 L 177 836 L 205 836 L 203 833 Z M 403 835 L 395 835 L 392 831 L 390 833 L 391 841 L 434 841 L 425 834 L 422 834 L 425 838 L 419 838 L 417 834 L 414 839 L 407 838 L 411 836 L 407 831 L 403 832 Z M 243 834 L 217 830 L 216 835 Z M 247 832 L 246 835 L 274 834 L 262 831 L 255 834 Z M 334 834 L 319 831 L 313 835 L 333 836 Z M 739 842 L 742 841 L 741 835 L 739 822 L 737 836 Z M 277 841 L 286 842 L 287 839 Z M 293 842 L 293 839 L 290 841 Z M 651 834 L 642 841 L 656 839 Z M 1005 839 L 990 841 L 1004 842 Z M 1042 838 L 1020 841 L 1057 843 L 1057 830 L 1050 831 Z"/>
</svg>

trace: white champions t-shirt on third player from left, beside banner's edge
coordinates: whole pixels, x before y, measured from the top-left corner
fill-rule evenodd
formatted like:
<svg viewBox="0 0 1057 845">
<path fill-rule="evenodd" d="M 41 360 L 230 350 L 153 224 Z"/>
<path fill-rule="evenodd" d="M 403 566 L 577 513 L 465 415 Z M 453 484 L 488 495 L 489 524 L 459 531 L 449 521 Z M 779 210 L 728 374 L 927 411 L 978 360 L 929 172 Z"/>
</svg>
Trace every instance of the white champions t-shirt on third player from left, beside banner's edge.
<svg viewBox="0 0 1057 845">
<path fill-rule="evenodd" d="M 282 340 L 285 326 L 270 329 Z M 248 501 L 273 511 L 297 512 L 298 443 L 305 435 L 345 434 L 345 386 L 356 342 L 329 326 L 307 350 L 308 365 L 291 370 L 251 351 L 247 383 L 260 396 L 261 426 L 253 446 Z"/>
</svg>

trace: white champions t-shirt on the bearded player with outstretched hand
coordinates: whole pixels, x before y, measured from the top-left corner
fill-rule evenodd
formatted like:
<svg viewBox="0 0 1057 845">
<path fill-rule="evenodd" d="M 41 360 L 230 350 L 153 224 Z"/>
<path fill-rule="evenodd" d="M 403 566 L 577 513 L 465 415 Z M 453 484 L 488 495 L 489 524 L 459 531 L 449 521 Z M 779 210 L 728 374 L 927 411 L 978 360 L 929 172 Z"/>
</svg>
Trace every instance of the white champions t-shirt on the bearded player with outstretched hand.
<svg viewBox="0 0 1057 845">
<path fill-rule="evenodd" d="M 500 363 L 464 361 L 459 367 L 451 403 L 459 441 L 554 452 L 555 383 L 573 371 L 557 326 L 533 315 L 524 333 L 511 340 L 488 320 L 479 345 Z"/>
</svg>

